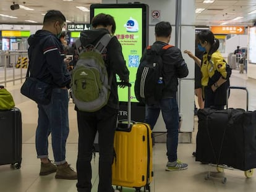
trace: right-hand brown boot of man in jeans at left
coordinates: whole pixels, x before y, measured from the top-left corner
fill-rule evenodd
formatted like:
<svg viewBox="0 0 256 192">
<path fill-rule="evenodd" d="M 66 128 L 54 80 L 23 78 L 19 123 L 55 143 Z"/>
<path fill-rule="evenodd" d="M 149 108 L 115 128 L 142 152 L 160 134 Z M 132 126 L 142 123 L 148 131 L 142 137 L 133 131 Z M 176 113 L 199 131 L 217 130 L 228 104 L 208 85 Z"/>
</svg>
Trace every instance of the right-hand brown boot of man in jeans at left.
<svg viewBox="0 0 256 192">
<path fill-rule="evenodd" d="M 77 179 L 77 172 L 66 162 L 58 165 L 55 178 L 75 180 Z"/>
</svg>

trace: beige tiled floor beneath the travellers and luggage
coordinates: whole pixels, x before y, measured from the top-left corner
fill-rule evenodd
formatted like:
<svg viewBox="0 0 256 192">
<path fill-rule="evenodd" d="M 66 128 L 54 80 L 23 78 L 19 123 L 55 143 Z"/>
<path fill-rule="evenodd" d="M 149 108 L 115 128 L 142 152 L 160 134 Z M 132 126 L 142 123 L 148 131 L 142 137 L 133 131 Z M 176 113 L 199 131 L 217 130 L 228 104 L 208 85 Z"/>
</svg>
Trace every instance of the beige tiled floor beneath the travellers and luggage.
<svg viewBox="0 0 256 192">
<path fill-rule="evenodd" d="M 11 84 L 11 83 L 10 83 Z M 233 70 L 231 85 L 246 86 L 249 90 L 249 109 L 256 109 L 256 80 L 247 79 L 246 74 L 239 74 Z M 36 104 L 23 97 L 19 93 L 20 84 L 7 85 L 7 89 L 14 96 L 16 106 L 22 111 L 23 121 L 23 144 L 22 144 L 22 166 L 20 169 L 11 169 L 10 165 L 0 166 L 0 191 L 1 192 L 70 192 L 76 191 L 75 180 L 56 180 L 54 173 L 40 177 L 40 161 L 36 159 L 35 152 L 35 129 L 37 122 Z M 231 93 L 229 103 L 231 107 L 244 107 L 245 95 L 234 90 Z M 233 106 L 234 105 L 234 106 Z M 67 140 L 67 161 L 75 168 L 77 156 L 77 123 L 74 112 L 74 104 L 69 106 L 70 133 Z M 1 125 L 0 125 L 1 126 Z M 189 164 L 189 169 L 166 172 L 166 146 L 163 143 L 156 143 L 153 148 L 153 171 L 154 177 L 151 183 L 151 192 L 198 192 L 198 191 L 255 191 L 256 176 L 245 178 L 241 170 L 224 170 L 227 182 L 221 180 L 205 180 L 209 170 L 216 170 L 216 167 L 202 165 L 195 162 L 192 152 L 195 149 L 195 135 L 197 133 L 197 117 L 195 117 L 195 132 L 192 134 L 192 143 L 179 143 L 178 156 Z M 53 159 L 52 152 L 50 153 Z M 93 190 L 96 192 L 98 183 L 98 155 L 93 165 Z M 124 192 L 134 191 L 125 188 Z"/>
</svg>

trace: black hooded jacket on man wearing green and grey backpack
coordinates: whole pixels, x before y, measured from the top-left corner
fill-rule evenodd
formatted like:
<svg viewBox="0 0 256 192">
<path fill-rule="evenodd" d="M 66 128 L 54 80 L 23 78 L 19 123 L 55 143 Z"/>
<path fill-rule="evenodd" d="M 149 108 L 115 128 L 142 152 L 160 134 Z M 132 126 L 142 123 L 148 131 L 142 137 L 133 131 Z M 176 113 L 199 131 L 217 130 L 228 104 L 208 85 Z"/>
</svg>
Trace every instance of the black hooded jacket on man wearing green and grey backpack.
<svg viewBox="0 0 256 192">
<path fill-rule="evenodd" d="M 96 45 L 100 38 L 109 33 L 105 28 L 96 30 L 85 30 L 81 32 L 80 41 L 83 46 L 88 44 Z M 126 67 L 126 61 L 122 55 L 122 47 L 116 36 L 113 36 L 106 46 L 105 51 L 103 51 L 103 59 L 108 70 L 108 76 L 113 74 L 113 79 L 111 83 L 111 93 L 109 95 L 108 106 L 118 109 L 119 99 L 117 94 L 117 84 L 116 84 L 116 74 L 119 76 L 120 80 L 129 80 L 129 70 Z"/>
</svg>

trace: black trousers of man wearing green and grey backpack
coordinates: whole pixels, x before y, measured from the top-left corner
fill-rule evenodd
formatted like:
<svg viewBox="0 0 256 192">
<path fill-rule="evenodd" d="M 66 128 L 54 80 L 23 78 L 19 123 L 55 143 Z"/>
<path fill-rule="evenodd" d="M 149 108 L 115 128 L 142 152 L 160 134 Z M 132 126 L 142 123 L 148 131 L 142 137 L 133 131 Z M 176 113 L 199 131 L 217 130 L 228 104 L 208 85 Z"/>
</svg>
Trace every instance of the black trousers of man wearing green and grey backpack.
<svg viewBox="0 0 256 192">
<path fill-rule="evenodd" d="M 99 144 L 98 192 L 112 192 L 112 164 L 114 157 L 114 132 L 117 109 L 105 106 L 96 112 L 77 111 L 79 151 L 77 157 L 77 191 L 92 190 L 92 151 L 96 131 Z"/>
</svg>

